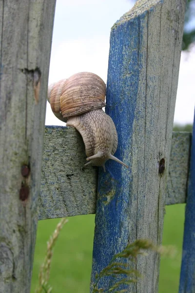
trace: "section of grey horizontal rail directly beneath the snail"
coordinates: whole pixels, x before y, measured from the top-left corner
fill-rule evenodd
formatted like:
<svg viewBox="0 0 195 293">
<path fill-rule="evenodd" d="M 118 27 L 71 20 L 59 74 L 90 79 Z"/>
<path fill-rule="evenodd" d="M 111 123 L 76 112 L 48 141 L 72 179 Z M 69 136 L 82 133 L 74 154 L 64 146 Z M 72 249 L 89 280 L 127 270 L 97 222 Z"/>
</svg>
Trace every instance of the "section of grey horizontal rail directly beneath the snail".
<svg viewBox="0 0 195 293">
<path fill-rule="evenodd" d="M 46 126 L 39 220 L 95 213 L 98 168 L 86 167 L 81 135 L 74 127 Z"/>
</svg>

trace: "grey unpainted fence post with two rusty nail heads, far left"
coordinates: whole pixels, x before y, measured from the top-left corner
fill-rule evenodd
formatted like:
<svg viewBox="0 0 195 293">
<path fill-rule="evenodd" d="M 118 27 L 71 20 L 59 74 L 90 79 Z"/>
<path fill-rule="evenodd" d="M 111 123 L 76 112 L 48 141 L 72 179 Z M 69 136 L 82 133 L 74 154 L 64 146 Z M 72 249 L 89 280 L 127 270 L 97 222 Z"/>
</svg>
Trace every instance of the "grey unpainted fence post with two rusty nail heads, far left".
<svg viewBox="0 0 195 293">
<path fill-rule="evenodd" d="M 0 293 L 28 293 L 55 0 L 0 1 Z"/>
</svg>

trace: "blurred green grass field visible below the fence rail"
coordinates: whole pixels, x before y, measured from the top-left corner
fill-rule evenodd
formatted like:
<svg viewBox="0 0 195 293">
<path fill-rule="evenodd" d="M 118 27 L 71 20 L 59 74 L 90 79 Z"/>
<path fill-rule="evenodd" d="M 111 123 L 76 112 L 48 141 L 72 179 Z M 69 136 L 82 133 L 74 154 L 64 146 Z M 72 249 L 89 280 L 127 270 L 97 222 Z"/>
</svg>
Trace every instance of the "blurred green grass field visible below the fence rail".
<svg viewBox="0 0 195 293">
<path fill-rule="evenodd" d="M 174 258 L 161 259 L 159 293 L 178 292 L 184 209 L 185 205 L 166 207 L 163 245 L 176 246 L 178 253 Z M 89 293 L 94 219 L 94 215 L 71 217 L 61 230 L 52 259 L 52 293 Z M 31 293 L 38 283 L 46 242 L 58 222 L 59 219 L 39 221 Z"/>
</svg>

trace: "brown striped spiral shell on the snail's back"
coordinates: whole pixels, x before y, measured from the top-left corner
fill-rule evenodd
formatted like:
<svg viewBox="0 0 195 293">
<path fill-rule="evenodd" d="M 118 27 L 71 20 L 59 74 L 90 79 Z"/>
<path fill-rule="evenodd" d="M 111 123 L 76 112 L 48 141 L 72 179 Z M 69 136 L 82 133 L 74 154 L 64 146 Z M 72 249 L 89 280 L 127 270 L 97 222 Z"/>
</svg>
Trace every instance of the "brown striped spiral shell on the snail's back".
<svg viewBox="0 0 195 293">
<path fill-rule="evenodd" d="M 48 88 L 52 111 L 65 122 L 67 117 L 104 107 L 105 95 L 105 83 L 91 72 L 76 73 Z"/>
</svg>

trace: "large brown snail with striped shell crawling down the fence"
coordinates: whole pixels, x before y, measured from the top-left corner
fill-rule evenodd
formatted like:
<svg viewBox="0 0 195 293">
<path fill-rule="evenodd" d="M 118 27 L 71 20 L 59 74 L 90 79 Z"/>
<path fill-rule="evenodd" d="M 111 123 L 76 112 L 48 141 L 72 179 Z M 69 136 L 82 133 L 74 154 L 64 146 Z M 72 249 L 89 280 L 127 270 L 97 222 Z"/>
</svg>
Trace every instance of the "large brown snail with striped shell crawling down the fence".
<svg viewBox="0 0 195 293">
<path fill-rule="evenodd" d="M 74 126 L 81 134 L 87 161 L 84 166 L 102 166 L 108 159 L 128 167 L 114 157 L 117 130 L 105 106 L 106 85 L 98 75 L 80 72 L 48 87 L 48 102 L 57 118 Z"/>
</svg>

